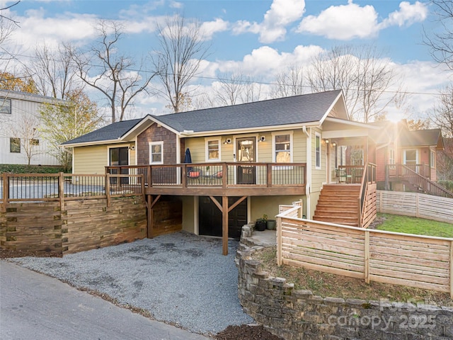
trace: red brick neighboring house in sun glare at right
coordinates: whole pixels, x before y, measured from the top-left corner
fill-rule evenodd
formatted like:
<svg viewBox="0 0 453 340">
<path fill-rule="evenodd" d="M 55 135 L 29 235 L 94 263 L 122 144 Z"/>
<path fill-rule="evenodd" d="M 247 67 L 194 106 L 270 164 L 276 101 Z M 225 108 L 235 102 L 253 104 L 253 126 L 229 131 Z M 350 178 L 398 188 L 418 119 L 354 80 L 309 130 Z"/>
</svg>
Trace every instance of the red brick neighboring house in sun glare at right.
<svg viewBox="0 0 453 340">
<path fill-rule="evenodd" d="M 373 135 L 378 188 L 449 196 L 436 183 L 437 152 L 445 149 L 440 129 L 409 130 L 406 120 L 372 125 L 379 127 Z"/>
</svg>

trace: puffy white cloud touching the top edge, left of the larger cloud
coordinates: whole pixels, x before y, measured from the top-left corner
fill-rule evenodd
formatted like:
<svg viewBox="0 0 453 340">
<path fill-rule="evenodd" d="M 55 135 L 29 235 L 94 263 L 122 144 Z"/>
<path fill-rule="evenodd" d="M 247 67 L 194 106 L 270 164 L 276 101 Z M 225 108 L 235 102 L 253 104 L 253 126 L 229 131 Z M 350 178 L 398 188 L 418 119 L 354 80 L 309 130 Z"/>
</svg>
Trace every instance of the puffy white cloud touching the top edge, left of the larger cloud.
<svg viewBox="0 0 453 340">
<path fill-rule="evenodd" d="M 233 33 L 255 33 L 260 35 L 260 42 L 270 43 L 284 40 L 286 26 L 299 20 L 305 11 L 304 0 L 274 0 L 265 13 L 263 22 L 237 21 Z"/>
</svg>

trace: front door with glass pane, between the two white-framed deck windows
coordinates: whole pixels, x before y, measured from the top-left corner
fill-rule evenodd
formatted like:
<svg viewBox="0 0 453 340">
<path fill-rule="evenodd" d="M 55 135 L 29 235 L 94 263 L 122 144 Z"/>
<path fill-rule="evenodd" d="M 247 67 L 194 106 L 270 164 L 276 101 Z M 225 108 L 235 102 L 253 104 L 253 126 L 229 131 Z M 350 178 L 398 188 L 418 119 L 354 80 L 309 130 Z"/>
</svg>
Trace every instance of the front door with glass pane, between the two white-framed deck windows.
<svg viewBox="0 0 453 340">
<path fill-rule="evenodd" d="M 254 163 L 256 162 L 256 138 L 246 137 L 236 140 L 236 162 Z M 256 166 L 239 165 L 237 167 L 238 184 L 256 184 Z"/>
</svg>

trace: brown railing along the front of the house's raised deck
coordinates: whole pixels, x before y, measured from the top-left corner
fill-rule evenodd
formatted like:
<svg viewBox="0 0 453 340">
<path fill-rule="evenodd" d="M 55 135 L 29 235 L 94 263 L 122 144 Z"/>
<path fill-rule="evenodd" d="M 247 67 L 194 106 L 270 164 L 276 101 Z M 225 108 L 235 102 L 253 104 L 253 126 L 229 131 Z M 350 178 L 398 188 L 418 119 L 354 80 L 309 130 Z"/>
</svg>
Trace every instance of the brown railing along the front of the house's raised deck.
<svg viewBox="0 0 453 340">
<path fill-rule="evenodd" d="M 178 188 L 305 186 L 305 163 L 198 163 L 105 166 L 106 174 L 141 174 L 145 186 Z"/>
</svg>

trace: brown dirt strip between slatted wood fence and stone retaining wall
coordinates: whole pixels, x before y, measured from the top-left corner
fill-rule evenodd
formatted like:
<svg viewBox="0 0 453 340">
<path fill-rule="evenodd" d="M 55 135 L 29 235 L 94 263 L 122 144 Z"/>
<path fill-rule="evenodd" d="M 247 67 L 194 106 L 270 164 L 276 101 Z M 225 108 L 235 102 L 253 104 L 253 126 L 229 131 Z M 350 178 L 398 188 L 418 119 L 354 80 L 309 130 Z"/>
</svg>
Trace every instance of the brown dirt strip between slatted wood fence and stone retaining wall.
<svg viewBox="0 0 453 340">
<path fill-rule="evenodd" d="M 311 271 L 295 266 L 277 266 L 275 246 L 256 251 L 253 254 L 253 259 L 261 261 L 263 271 L 267 271 L 270 276 L 286 278 L 288 283 L 294 283 L 294 289 L 308 289 L 314 295 L 321 295 L 322 297 L 420 302 L 428 305 L 453 307 L 453 300 L 449 298 L 448 293 L 388 283 L 371 282 L 368 284 L 365 283 L 365 280 L 358 278 Z"/>
</svg>

